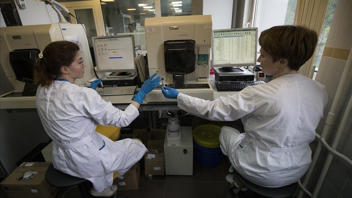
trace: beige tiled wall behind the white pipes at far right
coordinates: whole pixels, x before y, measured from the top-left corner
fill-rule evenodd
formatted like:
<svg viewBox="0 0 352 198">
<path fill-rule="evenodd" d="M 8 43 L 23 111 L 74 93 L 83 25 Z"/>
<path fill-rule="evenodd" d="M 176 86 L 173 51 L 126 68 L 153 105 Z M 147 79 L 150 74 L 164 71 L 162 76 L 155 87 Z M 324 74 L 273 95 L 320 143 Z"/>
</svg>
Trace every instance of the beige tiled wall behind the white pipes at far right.
<svg viewBox="0 0 352 198">
<path fill-rule="evenodd" d="M 345 68 L 348 55 L 352 46 L 352 0 L 339 0 L 331 29 L 327 38 L 326 46 L 319 66 L 316 81 L 325 85 L 328 93 L 328 103 L 324 111 L 324 118 L 320 121 L 316 132 L 322 133 L 325 125 L 325 118 L 331 108 L 336 90 L 338 88 L 342 72 Z M 350 57 L 351 58 L 351 57 Z M 345 112 L 348 100 L 352 94 L 352 71 L 348 76 L 344 92 L 338 104 L 333 125 L 326 138 L 329 145 L 337 133 L 342 115 Z M 348 120 L 352 121 L 352 112 Z M 314 153 L 318 139 L 310 143 Z M 340 139 L 337 151 L 352 159 L 352 122 L 348 122 Z M 313 174 L 308 183 L 308 190 L 313 192 L 316 181 L 319 178 L 322 167 L 325 163 L 328 151 L 323 147 L 318 162 L 315 165 Z M 302 180 L 301 180 L 302 181 Z M 340 157 L 335 156 L 322 184 L 319 198 L 350 198 L 352 197 L 352 166 Z"/>
</svg>

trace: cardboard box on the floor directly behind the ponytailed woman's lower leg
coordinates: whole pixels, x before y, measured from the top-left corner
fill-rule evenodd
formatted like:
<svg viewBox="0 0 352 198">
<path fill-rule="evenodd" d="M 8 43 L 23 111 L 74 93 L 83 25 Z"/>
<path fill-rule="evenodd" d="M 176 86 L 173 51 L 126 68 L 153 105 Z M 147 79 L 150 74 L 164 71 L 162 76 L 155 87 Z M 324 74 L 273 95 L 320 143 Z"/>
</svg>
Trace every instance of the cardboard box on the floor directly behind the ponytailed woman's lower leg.
<svg viewBox="0 0 352 198">
<path fill-rule="evenodd" d="M 116 177 L 118 174 L 114 174 Z M 124 175 L 114 178 L 113 184 L 117 185 L 117 191 L 138 190 L 140 179 L 140 165 L 137 162 Z"/>
</svg>

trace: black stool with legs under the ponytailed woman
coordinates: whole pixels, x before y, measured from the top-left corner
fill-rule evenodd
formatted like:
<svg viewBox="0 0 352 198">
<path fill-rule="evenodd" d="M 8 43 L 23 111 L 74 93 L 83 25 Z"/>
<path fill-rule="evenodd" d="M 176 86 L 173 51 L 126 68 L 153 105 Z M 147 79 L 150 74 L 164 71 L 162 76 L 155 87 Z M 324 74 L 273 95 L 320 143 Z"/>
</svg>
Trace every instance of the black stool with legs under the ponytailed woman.
<svg viewBox="0 0 352 198">
<path fill-rule="evenodd" d="M 68 187 L 71 186 L 62 196 L 63 198 L 67 193 L 69 193 L 73 188 L 79 187 L 81 195 L 83 198 L 89 197 L 89 192 L 83 185 L 83 182 L 86 181 L 84 178 L 78 178 L 66 173 L 63 173 L 54 168 L 52 164 L 49 165 L 48 169 L 45 173 L 45 179 L 48 184 L 55 186 L 55 187 Z"/>
</svg>

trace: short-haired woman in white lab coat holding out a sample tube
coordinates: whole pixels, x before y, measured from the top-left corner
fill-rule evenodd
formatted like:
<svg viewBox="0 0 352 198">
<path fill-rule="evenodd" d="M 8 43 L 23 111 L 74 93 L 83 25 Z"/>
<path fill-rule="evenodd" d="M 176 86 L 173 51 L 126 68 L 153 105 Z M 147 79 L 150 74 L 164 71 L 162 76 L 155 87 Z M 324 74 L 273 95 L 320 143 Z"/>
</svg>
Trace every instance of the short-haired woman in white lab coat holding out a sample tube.
<svg viewBox="0 0 352 198">
<path fill-rule="evenodd" d="M 325 86 L 298 73 L 313 55 L 317 34 L 302 26 L 275 26 L 259 37 L 258 62 L 273 80 L 248 86 L 214 101 L 202 100 L 161 87 L 180 109 L 218 121 L 241 119 L 245 133 L 224 126 L 220 148 L 232 168 L 247 180 L 265 187 L 298 181 L 312 159 L 309 142 L 327 103 Z M 232 175 L 226 177 L 235 184 Z"/>
</svg>

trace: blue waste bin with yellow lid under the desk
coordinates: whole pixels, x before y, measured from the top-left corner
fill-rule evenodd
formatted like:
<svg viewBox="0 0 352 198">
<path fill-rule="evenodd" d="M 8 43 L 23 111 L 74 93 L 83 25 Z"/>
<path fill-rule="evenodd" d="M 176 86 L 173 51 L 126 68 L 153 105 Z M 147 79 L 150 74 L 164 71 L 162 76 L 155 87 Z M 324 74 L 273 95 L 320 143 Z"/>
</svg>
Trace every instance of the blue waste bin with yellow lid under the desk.
<svg viewBox="0 0 352 198">
<path fill-rule="evenodd" d="M 193 130 L 193 154 L 201 166 L 213 168 L 221 163 L 221 128 L 212 124 L 199 125 Z"/>
</svg>

